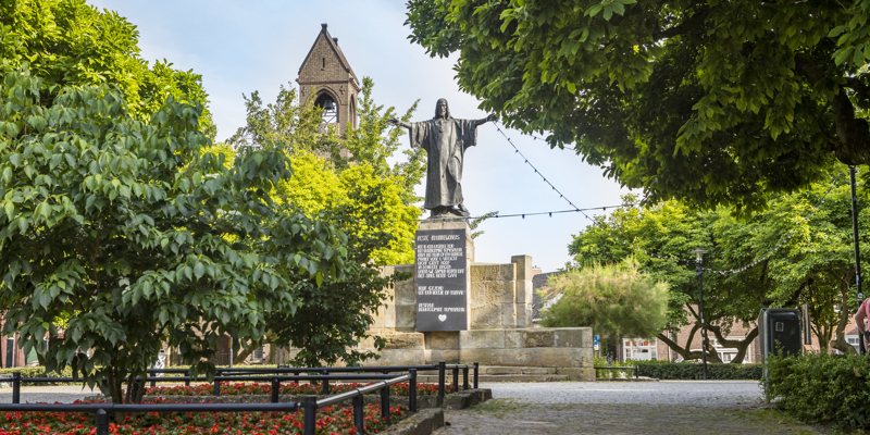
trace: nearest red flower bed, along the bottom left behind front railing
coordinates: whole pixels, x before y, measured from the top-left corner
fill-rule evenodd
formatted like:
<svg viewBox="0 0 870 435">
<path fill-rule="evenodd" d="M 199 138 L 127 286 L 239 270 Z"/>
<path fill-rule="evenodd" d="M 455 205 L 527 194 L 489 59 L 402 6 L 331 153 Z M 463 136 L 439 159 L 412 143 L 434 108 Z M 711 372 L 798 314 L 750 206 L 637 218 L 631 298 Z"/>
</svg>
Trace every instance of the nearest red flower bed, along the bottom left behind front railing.
<svg viewBox="0 0 870 435">
<path fill-rule="evenodd" d="M 82 402 L 76 402 L 82 403 Z M 161 403 L 153 400 L 151 403 Z M 377 433 L 386 428 L 381 418 L 381 408 L 369 405 L 364 408 L 365 432 Z M 389 409 L 393 422 L 408 415 L 408 408 Z M 94 414 L 77 412 L 7 412 L 0 414 L 0 435 L 64 434 L 90 435 L 94 433 Z M 192 434 L 302 434 L 302 411 L 283 412 L 149 412 L 123 423 L 111 423 L 109 432 L 121 435 L 192 435 Z M 356 434 L 352 407 L 325 407 L 318 410 L 318 435 Z"/>
</svg>

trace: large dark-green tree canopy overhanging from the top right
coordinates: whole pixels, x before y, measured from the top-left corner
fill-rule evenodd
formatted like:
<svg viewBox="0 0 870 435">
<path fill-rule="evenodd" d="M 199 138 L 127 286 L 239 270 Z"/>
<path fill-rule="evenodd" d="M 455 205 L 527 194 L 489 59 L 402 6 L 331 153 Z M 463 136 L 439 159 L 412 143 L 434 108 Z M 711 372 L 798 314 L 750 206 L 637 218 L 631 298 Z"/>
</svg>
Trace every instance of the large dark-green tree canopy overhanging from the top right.
<svg viewBox="0 0 870 435">
<path fill-rule="evenodd" d="M 870 2 L 411 0 L 411 40 L 645 199 L 739 212 L 870 163 Z"/>
</svg>

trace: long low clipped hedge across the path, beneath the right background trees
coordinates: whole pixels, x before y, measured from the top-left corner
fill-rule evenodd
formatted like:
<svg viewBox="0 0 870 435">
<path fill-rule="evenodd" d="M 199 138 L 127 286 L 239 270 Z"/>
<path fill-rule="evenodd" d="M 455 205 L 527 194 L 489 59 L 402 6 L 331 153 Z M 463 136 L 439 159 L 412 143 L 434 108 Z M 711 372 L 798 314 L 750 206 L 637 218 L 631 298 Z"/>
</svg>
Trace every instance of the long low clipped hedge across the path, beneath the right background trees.
<svg viewBox="0 0 870 435">
<path fill-rule="evenodd" d="M 694 362 L 638 361 L 641 376 L 657 380 L 703 380 L 704 364 Z M 708 380 L 750 380 L 761 378 L 761 364 L 707 364 Z"/>
</svg>

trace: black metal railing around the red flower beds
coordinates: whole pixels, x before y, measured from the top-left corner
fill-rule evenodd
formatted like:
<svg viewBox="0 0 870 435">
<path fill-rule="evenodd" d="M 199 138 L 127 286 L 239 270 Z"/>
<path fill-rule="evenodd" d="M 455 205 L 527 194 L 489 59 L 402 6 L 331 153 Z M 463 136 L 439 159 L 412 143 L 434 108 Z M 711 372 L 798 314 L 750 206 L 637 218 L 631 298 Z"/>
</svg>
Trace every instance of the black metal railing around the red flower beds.
<svg viewBox="0 0 870 435">
<path fill-rule="evenodd" d="M 9 382 L 12 383 L 12 403 L 0 403 L 0 411 L 12 412 L 92 412 L 97 414 L 97 435 L 109 434 L 109 415 L 115 412 L 296 412 L 303 411 L 304 435 L 313 435 L 316 424 L 318 409 L 352 399 L 353 422 L 357 431 L 364 434 L 363 427 L 363 395 L 369 391 L 381 390 L 381 414 L 389 424 L 389 387 L 391 385 L 408 381 L 408 408 L 411 412 L 417 412 L 417 378 L 418 371 L 438 372 L 438 397 L 444 400 L 446 390 L 446 372 L 452 370 L 453 391 L 459 390 L 459 371 L 462 370 L 463 389 L 469 389 L 469 371 L 474 370 L 473 385 L 477 388 L 480 364 L 447 364 L 440 361 L 431 365 L 401 365 L 401 366 L 352 366 L 352 368 L 278 368 L 278 369 L 219 369 L 217 376 L 213 381 L 212 394 L 221 395 L 221 382 L 253 382 L 268 381 L 271 383 L 270 403 L 167 403 L 167 405 L 115 405 L 115 403 L 90 403 L 90 405 L 46 405 L 46 403 L 21 403 L 22 384 L 40 384 L 57 382 L 82 382 L 80 378 L 73 377 L 22 377 L 21 373 L 13 373 Z M 346 374 L 352 372 L 381 372 L 381 374 Z M 407 372 L 407 374 L 391 375 L 390 373 Z M 148 374 L 157 375 L 160 373 L 179 373 L 186 376 L 149 376 L 145 382 L 150 382 L 151 386 L 157 383 L 177 383 L 184 381 L 185 385 L 190 382 L 208 381 L 206 377 L 191 377 L 188 369 L 151 369 Z M 229 375 L 227 375 L 227 373 Z M 293 375 L 287 376 L 290 373 Z M 302 373 L 321 373 L 319 375 L 303 375 Z M 266 374 L 272 374 L 268 376 Z M 136 381 L 136 382 L 133 382 Z M 132 395 L 137 393 L 140 378 L 128 380 L 128 385 L 134 388 Z M 372 385 L 355 388 L 351 391 L 338 394 L 318 400 L 318 396 L 306 396 L 302 402 L 279 403 L 281 384 L 284 382 L 321 382 L 321 393 L 328 395 L 331 391 L 330 382 L 339 381 L 380 381 Z"/>
</svg>

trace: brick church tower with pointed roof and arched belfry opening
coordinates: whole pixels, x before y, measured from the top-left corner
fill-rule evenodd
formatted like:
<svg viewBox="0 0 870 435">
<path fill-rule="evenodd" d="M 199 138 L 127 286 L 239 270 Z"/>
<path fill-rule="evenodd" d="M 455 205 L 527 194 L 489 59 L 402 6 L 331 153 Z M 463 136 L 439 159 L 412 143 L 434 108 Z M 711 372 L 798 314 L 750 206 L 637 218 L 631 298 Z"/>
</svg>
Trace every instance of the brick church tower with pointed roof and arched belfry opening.
<svg viewBox="0 0 870 435">
<path fill-rule="evenodd" d="M 313 100 L 323 109 L 323 122 L 333 124 L 338 135 L 344 135 L 347 124 L 357 127 L 357 95 L 360 82 L 333 38 L 321 24 L 320 35 L 299 67 L 299 102 Z"/>
</svg>

